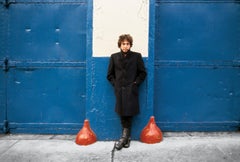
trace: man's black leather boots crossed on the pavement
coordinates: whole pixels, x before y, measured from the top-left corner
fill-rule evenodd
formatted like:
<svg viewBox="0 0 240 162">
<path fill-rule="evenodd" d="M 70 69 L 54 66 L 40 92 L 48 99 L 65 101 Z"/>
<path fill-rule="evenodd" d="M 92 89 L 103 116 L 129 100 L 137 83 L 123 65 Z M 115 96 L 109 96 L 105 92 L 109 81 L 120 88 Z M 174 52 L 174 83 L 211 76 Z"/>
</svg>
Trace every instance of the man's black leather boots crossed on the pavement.
<svg viewBox="0 0 240 162">
<path fill-rule="evenodd" d="M 116 143 L 115 147 L 117 150 L 121 150 L 123 147 L 128 148 L 130 146 L 130 129 L 123 128 L 122 137 Z"/>
</svg>

